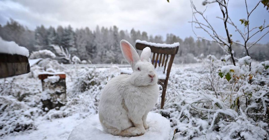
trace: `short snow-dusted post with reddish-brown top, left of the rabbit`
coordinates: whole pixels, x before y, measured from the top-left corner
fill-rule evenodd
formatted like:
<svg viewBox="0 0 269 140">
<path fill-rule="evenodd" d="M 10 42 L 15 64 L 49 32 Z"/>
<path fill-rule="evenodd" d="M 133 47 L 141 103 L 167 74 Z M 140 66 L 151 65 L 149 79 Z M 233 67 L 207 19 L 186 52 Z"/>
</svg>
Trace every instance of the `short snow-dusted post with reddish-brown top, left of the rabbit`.
<svg viewBox="0 0 269 140">
<path fill-rule="evenodd" d="M 66 85 L 64 73 L 39 73 L 39 79 L 42 82 L 42 109 L 61 107 L 66 102 Z"/>
</svg>

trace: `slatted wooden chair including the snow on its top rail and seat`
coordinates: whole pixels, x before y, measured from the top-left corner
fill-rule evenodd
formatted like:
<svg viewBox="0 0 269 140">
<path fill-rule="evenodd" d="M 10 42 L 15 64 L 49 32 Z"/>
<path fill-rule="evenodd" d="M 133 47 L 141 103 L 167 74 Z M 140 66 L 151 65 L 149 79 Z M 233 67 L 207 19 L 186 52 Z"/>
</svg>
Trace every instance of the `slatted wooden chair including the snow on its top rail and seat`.
<svg viewBox="0 0 269 140">
<path fill-rule="evenodd" d="M 156 68 L 155 70 L 158 74 L 158 83 L 163 87 L 161 96 L 161 108 L 163 108 L 169 74 L 175 55 L 178 53 L 179 43 L 161 44 L 140 40 L 136 40 L 135 42 L 136 49 L 143 50 L 145 47 L 149 47 L 153 53 L 152 64 Z"/>
</svg>

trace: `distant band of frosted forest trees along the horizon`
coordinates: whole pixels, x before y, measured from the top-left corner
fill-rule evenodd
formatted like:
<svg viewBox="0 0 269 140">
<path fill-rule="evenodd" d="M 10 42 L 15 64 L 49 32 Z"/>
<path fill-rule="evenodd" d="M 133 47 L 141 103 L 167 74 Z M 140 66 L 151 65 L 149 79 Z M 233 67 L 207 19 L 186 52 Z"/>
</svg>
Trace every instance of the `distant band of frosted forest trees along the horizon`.
<svg viewBox="0 0 269 140">
<path fill-rule="evenodd" d="M 191 32 L 191 31 L 190 31 Z M 224 51 L 216 44 L 206 40 L 196 40 L 187 37 L 184 40 L 180 37 L 167 34 L 166 39 L 160 35 L 152 36 L 147 32 L 140 32 L 132 29 L 120 30 L 117 26 L 110 28 L 97 27 L 95 29 L 81 28 L 73 29 L 58 26 L 45 28 L 43 25 L 36 27 L 34 31 L 10 19 L 6 25 L 0 25 L 0 36 L 6 41 L 15 41 L 19 46 L 26 47 L 31 52 L 39 50 L 50 50 L 56 55 L 52 46 L 62 46 L 71 57 L 77 56 L 80 60 L 88 60 L 91 63 L 126 63 L 121 54 L 120 40 L 125 39 L 135 46 L 137 39 L 155 43 L 180 43 L 180 49 L 175 57 L 175 63 L 195 63 L 196 58 L 205 57 L 209 54 L 221 58 Z M 234 47 L 234 55 L 237 58 L 245 56 L 242 46 Z M 201 55 L 203 54 L 203 55 Z M 257 61 L 269 60 L 269 42 L 267 44 L 256 44 L 250 48 L 250 57 Z M 61 63 L 69 63 L 58 60 Z"/>
</svg>

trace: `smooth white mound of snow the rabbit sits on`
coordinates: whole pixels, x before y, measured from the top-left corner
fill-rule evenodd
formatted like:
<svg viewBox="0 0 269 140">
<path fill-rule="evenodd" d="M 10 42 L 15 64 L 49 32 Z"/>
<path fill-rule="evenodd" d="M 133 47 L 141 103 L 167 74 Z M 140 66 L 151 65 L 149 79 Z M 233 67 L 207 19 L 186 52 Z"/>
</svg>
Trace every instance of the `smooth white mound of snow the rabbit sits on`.
<svg viewBox="0 0 269 140">
<path fill-rule="evenodd" d="M 142 136 L 122 137 L 114 136 L 103 131 L 98 114 L 86 119 L 80 125 L 75 127 L 68 140 L 167 140 L 170 133 L 170 122 L 159 113 L 149 112 L 147 121 L 149 129 Z"/>
</svg>

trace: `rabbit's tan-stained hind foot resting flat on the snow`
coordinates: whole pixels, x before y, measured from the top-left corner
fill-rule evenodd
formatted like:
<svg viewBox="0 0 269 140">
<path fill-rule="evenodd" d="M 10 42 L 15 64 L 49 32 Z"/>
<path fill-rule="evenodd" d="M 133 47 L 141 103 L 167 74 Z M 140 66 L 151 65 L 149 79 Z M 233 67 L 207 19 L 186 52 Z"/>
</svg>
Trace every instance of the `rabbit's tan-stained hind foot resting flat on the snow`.
<svg viewBox="0 0 269 140">
<path fill-rule="evenodd" d="M 109 127 L 107 128 L 107 131 L 111 133 L 112 135 L 120 135 L 120 136 L 126 136 L 126 137 L 143 135 L 143 133 L 136 127 L 129 127 L 122 131 L 118 130 L 115 127 Z"/>
</svg>

